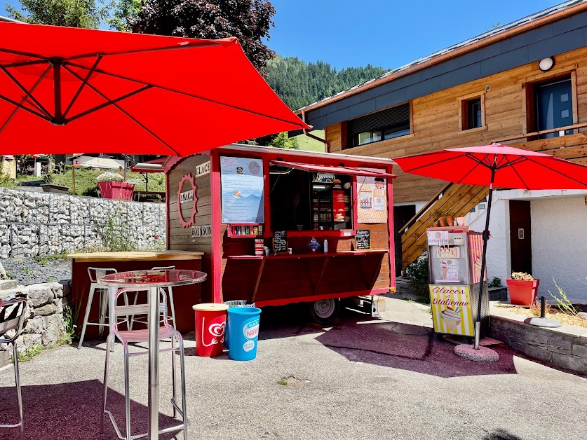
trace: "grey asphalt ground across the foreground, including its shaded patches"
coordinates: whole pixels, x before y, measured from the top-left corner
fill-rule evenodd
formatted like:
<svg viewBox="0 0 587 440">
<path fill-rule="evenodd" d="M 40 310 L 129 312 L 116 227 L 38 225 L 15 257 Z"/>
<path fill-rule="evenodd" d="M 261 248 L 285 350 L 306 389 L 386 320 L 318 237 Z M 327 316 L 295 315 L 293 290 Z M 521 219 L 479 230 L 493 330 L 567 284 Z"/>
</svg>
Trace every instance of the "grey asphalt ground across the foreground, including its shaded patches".
<svg viewBox="0 0 587 440">
<path fill-rule="evenodd" d="M 189 439 L 587 439 L 586 378 L 507 348 L 497 348 L 494 364 L 466 361 L 431 334 L 421 308 L 386 301 L 386 320 L 346 312 L 325 328 L 307 322 L 296 305 L 265 308 L 251 362 L 231 361 L 226 352 L 196 357 L 191 338 Z M 173 423 L 170 356 L 161 355 L 161 427 Z M 123 429 L 120 344 L 111 365 L 109 406 Z M 116 439 L 109 422 L 99 432 L 103 368 L 103 341 L 22 363 L 26 438 Z M 133 434 L 140 434 L 147 429 L 147 357 L 131 358 L 130 369 Z M 0 423 L 15 417 L 8 367 L 0 371 Z M 17 439 L 17 431 L 0 429 L 0 439 Z"/>
</svg>

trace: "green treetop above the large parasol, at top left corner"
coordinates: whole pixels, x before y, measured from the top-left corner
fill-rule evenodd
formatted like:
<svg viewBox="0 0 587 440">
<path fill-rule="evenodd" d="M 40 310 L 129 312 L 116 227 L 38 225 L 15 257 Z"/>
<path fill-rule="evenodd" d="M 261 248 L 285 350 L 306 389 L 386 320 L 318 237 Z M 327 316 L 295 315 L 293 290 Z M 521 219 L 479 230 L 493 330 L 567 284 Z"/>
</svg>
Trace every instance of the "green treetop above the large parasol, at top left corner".
<svg viewBox="0 0 587 440">
<path fill-rule="evenodd" d="M 97 28 L 107 17 L 110 5 L 95 0 L 19 0 L 22 9 L 6 4 L 12 18 L 27 23 Z"/>
</svg>

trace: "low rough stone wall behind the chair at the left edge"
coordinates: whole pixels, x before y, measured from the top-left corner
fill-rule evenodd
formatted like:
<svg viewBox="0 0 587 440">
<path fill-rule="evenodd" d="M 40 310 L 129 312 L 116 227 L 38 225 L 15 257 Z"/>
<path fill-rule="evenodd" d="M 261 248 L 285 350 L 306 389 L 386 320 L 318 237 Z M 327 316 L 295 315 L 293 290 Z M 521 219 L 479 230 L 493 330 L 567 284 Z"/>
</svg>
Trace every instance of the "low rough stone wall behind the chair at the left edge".
<svg viewBox="0 0 587 440">
<path fill-rule="evenodd" d="M 17 340 L 19 352 L 25 352 L 39 344 L 49 347 L 60 341 L 65 334 L 63 306 L 69 301 L 70 291 L 69 281 L 0 290 L 0 302 L 22 296 L 27 298 L 25 326 Z M 2 359 L 7 359 L 1 355 L 3 349 L 6 347 L 0 345 L 0 366 L 3 366 Z"/>
</svg>

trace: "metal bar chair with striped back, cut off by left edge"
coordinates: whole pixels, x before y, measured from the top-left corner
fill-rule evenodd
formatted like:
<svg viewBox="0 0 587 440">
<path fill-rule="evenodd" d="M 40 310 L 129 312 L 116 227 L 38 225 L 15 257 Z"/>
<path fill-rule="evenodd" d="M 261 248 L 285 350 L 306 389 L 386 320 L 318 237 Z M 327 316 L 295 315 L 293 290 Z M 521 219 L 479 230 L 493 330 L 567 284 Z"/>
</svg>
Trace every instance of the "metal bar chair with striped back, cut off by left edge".
<svg viewBox="0 0 587 440">
<path fill-rule="evenodd" d="M 18 351 L 16 340 L 22 332 L 22 324 L 25 322 L 27 300 L 25 298 L 0 301 L 0 344 L 12 344 L 14 379 L 16 383 L 16 399 L 18 400 L 18 420 L 15 425 L 0 425 L 0 428 L 20 427 L 20 440 L 25 440 L 25 424 L 22 420 L 22 394 L 20 392 L 20 374 L 18 371 Z M 20 315 L 19 315 L 20 313 Z M 13 336 L 7 336 L 8 332 Z"/>
</svg>

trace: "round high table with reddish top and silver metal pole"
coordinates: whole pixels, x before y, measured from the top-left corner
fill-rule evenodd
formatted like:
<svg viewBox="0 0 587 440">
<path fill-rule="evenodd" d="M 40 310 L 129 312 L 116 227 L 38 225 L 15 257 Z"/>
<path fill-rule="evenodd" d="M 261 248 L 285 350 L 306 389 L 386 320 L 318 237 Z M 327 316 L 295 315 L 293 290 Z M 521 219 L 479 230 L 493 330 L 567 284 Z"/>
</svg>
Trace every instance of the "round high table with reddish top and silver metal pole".
<svg viewBox="0 0 587 440">
<path fill-rule="evenodd" d="M 160 287 L 184 286 L 203 282 L 206 277 L 198 270 L 134 270 L 105 275 L 100 283 L 109 287 L 109 322 L 114 322 L 114 295 L 117 289 L 148 289 L 149 313 L 149 427 L 147 438 L 159 436 L 159 298 Z M 152 325 L 152 324 L 155 325 Z M 109 350 L 109 348 L 107 348 Z M 184 422 L 187 411 L 184 408 Z"/>
</svg>

